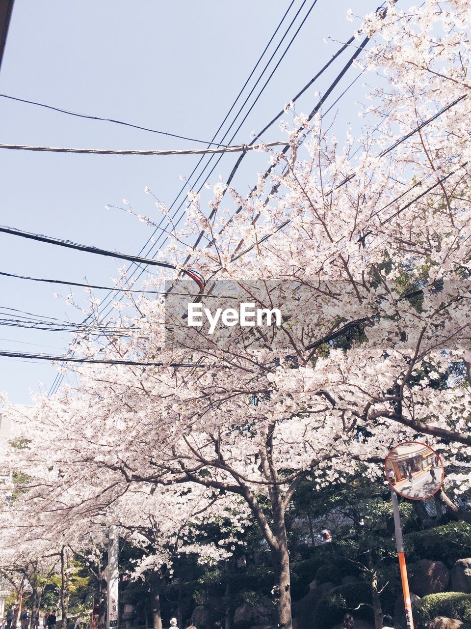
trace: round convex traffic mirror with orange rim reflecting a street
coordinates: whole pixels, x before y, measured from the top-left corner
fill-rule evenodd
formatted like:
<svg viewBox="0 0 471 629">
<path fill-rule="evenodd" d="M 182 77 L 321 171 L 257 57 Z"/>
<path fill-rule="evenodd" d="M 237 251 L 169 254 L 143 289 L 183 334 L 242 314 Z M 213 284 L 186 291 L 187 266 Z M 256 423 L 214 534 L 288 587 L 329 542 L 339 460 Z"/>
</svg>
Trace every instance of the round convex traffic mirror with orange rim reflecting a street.
<svg viewBox="0 0 471 629">
<path fill-rule="evenodd" d="M 399 496 L 425 500 L 443 483 L 445 470 L 435 450 L 416 441 L 399 443 L 386 457 L 386 478 Z"/>
</svg>

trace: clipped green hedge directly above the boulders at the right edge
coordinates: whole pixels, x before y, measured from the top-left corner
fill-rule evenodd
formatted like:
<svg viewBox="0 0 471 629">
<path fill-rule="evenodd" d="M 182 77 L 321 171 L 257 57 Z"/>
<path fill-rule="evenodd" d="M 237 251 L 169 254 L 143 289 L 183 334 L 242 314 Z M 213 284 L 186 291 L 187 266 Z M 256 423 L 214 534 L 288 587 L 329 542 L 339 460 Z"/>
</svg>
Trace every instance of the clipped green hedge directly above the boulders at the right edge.
<svg viewBox="0 0 471 629">
<path fill-rule="evenodd" d="M 452 568 L 458 559 L 471 557 L 471 526 L 465 522 L 450 522 L 426 531 L 404 535 L 408 562 L 430 559 L 443 561 Z"/>
</svg>

